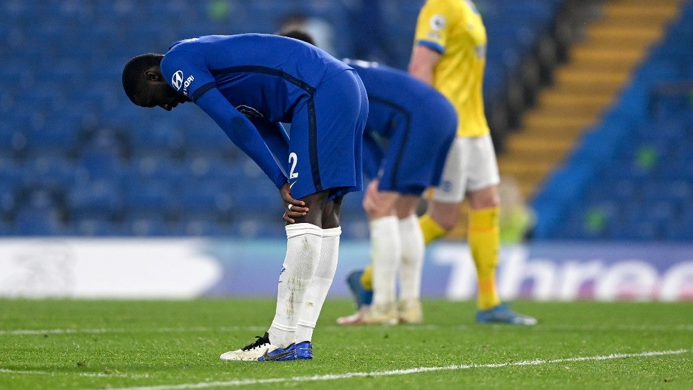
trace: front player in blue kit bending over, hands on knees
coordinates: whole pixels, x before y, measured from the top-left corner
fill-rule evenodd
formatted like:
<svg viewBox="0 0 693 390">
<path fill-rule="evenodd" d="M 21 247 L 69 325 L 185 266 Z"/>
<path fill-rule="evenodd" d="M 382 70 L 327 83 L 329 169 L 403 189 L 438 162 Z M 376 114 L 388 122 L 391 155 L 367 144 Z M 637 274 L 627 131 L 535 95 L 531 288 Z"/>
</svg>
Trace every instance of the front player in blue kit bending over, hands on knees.
<svg viewBox="0 0 693 390">
<path fill-rule="evenodd" d="M 342 197 L 362 190 L 368 101 L 356 72 L 295 39 L 211 35 L 175 42 L 165 55 L 132 58 L 123 88 L 142 107 L 198 105 L 286 204 L 288 243 L 272 325 L 220 358 L 311 359 L 313 329 L 337 267 Z M 291 136 L 281 123 L 291 123 Z"/>
</svg>

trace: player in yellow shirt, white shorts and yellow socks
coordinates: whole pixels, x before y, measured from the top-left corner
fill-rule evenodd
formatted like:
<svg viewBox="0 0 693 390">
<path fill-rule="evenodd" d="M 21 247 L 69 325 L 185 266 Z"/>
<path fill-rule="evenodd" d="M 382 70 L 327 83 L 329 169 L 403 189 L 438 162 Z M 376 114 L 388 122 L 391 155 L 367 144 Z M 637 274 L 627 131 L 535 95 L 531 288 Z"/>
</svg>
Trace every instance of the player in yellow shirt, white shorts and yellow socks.
<svg viewBox="0 0 693 390">
<path fill-rule="evenodd" d="M 459 123 L 443 179 L 433 190 L 428 211 L 419 223 L 428 245 L 455 227 L 462 201 L 468 197 L 471 206 L 468 244 L 478 281 L 476 321 L 534 325 L 536 319 L 518 314 L 501 303 L 495 285 L 500 247 L 500 177 L 484 114 L 485 65 L 486 28 L 472 1 L 427 0 L 416 22 L 409 72 L 453 103 Z M 401 272 L 408 271 L 401 269 Z M 420 278 L 421 267 L 418 272 Z M 357 272 L 347 279 L 358 303 L 367 303 L 362 301 L 369 289 L 363 287 L 369 287 L 372 278 L 377 279 L 378 274 L 368 267 L 362 274 Z M 377 280 L 372 283 L 378 285 Z M 407 294 L 419 296 L 419 292 Z"/>
</svg>

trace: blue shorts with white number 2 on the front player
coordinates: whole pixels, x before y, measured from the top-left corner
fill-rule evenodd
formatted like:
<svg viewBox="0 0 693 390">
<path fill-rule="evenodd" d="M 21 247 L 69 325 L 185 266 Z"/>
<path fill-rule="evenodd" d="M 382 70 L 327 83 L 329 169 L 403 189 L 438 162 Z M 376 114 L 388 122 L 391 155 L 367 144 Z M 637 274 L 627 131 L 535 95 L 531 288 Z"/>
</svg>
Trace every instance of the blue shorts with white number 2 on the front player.
<svg viewBox="0 0 693 390">
<path fill-rule="evenodd" d="M 295 112 L 289 140 L 289 175 L 295 199 L 329 190 L 328 200 L 363 190 L 362 137 L 368 98 L 355 71 L 323 80 Z"/>
</svg>

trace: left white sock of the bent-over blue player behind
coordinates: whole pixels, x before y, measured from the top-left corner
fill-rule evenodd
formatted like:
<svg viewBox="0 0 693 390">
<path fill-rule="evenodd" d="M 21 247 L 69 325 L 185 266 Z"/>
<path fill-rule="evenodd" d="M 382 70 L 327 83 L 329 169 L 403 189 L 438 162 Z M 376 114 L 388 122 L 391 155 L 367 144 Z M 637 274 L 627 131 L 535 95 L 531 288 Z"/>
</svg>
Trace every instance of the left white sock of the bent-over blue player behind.
<svg viewBox="0 0 693 390">
<path fill-rule="evenodd" d="M 402 257 L 398 221 L 396 216 L 391 215 L 376 218 L 369 223 L 374 305 L 389 305 L 395 300 L 396 274 Z"/>
</svg>

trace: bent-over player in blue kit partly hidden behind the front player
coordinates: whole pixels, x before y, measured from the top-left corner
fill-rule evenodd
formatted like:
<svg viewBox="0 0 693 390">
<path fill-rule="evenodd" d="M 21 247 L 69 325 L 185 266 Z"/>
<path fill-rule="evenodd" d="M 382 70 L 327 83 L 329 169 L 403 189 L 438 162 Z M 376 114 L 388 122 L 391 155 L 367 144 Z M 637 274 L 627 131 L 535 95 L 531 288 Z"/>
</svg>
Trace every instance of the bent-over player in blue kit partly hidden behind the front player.
<svg viewBox="0 0 693 390">
<path fill-rule="evenodd" d="M 300 30 L 281 35 L 313 43 Z M 363 206 L 369 218 L 373 296 L 370 305 L 337 323 L 419 323 L 425 245 L 416 207 L 426 188 L 440 182 L 455 139 L 457 114 L 445 96 L 404 71 L 374 62 L 344 61 L 356 69 L 369 101 L 364 167 L 374 179 Z M 350 278 L 354 276 L 358 274 Z M 353 281 L 349 284 L 354 289 Z M 369 303 L 368 298 L 358 301 Z"/>
</svg>

